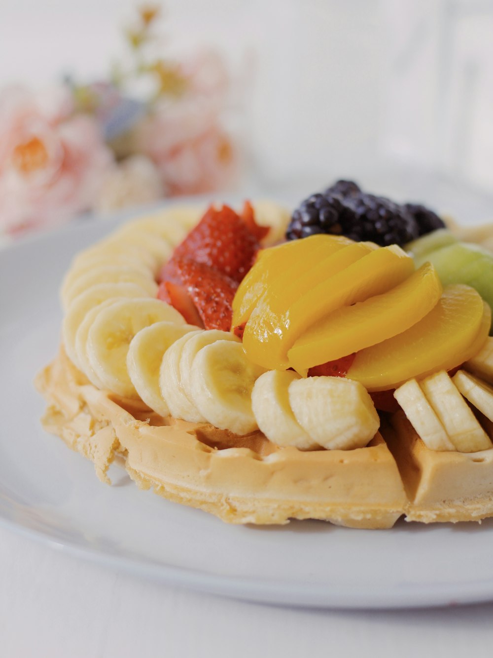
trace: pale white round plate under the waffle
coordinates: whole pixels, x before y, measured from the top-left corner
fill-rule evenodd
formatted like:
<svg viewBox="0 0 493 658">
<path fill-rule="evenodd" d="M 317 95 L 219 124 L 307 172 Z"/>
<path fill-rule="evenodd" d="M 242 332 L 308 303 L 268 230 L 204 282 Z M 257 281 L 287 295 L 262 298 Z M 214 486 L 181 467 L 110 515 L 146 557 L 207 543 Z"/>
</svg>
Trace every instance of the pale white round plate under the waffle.
<svg viewBox="0 0 493 658">
<path fill-rule="evenodd" d="M 0 522 L 47 544 L 188 588 L 285 605 L 410 607 L 493 599 L 493 520 L 392 530 L 292 522 L 229 526 L 114 486 L 39 425 L 35 373 L 55 356 L 70 257 L 112 224 L 87 223 L 0 252 Z"/>
</svg>

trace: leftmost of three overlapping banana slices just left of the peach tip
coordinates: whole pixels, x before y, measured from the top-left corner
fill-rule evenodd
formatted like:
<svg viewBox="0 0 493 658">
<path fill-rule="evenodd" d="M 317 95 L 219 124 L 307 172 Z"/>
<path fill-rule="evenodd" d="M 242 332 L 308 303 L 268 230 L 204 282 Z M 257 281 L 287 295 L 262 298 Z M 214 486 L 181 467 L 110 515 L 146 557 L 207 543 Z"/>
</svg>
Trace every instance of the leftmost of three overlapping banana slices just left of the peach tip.
<svg viewBox="0 0 493 658">
<path fill-rule="evenodd" d="M 164 353 L 159 374 L 161 395 L 170 409 L 170 414 L 190 422 L 207 422 L 207 420 L 181 385 L 181 352 L 189 340 L 203 333 L 204 331 L 199 329 L 173 343 Z"/>
</svg>

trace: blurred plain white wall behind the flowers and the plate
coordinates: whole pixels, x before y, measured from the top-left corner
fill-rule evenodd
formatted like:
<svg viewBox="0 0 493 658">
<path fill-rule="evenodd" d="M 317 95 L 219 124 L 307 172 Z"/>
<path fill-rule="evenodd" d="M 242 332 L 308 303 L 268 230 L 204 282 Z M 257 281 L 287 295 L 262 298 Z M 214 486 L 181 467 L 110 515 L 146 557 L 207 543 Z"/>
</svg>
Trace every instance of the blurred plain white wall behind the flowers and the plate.
<svg viewBox="0 0 493 658">
<path fill-rule="evenodd" d="M 129 0 L 1 0 L 0 85 L 92 80 Z M 164 52 L 211 45 L 237 80 L 254 174 L 327 183 L 401 159 L 493 186 L 490 0 L 168 0 Z M 168 51 L 169 49 L 169 51 Z"/>
</svg>

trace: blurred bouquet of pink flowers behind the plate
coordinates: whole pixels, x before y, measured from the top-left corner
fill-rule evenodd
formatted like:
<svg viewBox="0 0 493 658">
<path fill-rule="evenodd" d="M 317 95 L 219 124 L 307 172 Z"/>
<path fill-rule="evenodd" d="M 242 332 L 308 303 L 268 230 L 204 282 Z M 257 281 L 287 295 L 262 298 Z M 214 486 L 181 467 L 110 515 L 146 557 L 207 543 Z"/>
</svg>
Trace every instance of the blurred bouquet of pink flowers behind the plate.
<svg viewBox="0 0 493 658">
<path fill-rule="evenodd" d="M 158 16 L 139 9 L 105 80 L 0 91 L 0 238 L 235 180 L 225 65 L 161 57 Z"/>
</svg>

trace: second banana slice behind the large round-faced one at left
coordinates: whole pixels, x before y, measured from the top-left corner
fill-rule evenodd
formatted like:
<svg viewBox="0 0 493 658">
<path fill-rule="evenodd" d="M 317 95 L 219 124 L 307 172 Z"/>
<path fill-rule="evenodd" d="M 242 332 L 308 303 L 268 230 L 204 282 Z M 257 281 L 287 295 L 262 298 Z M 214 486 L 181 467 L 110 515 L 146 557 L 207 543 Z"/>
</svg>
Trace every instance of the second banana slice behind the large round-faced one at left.
<svg viewBox="0 0 493 658">
<path fill-rule="evenodd" d="M 111 297 L 148 297 L 137 284 L 97 284 L 76 297 L 66 312 L 62 324 L 62 340 L 68 358 L 80 367 L 76 351 L 76 334 L 85 315 Z"/>
</svg>

